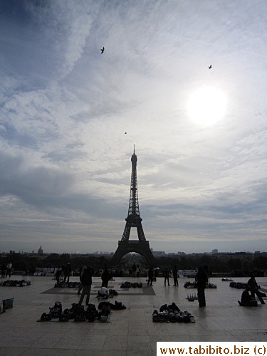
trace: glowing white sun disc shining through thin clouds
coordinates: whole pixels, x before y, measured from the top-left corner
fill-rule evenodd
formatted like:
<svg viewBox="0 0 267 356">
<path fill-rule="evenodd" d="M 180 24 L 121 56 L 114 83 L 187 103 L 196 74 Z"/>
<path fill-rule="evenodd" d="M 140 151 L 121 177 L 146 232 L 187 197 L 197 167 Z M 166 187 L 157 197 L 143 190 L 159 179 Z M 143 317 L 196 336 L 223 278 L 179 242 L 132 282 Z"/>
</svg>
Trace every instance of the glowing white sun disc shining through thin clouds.
<svg viewBox="0 0 267 356">
<path fill-rule="evenodd" d="M 214 125 L 225 115 L 226 95 L 214 87 L 201 87 L 189 96 L 187 110 L 191 120 L 197 124 Z"/>
</svg>

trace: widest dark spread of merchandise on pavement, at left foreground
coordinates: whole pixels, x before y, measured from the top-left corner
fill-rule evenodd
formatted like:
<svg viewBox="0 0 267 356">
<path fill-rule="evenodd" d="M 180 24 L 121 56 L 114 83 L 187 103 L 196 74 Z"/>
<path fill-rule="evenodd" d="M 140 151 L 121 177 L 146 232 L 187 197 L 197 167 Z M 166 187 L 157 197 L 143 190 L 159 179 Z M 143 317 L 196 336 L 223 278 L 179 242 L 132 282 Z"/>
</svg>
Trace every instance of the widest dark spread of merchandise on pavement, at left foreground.
<svg viewBox="0 0 267 356">
<path fill-rule="evenodd" d="M 102 302 L 98 305 L 98 311 L 94 304 L 88 304 L 87 308 L 84 305 L 73 303 L 70 309 L 62 310 L 61 302 L 56 302 L 52 308 L 49 308 L 49 313 L 43 313 L 37 321 L 59 321 L 75 323 L 93 323 L 105 322 L 110 323 L 111 309 L 125 309 L 121 302 L 115 301 L 115 304 Z"/>
</svg>

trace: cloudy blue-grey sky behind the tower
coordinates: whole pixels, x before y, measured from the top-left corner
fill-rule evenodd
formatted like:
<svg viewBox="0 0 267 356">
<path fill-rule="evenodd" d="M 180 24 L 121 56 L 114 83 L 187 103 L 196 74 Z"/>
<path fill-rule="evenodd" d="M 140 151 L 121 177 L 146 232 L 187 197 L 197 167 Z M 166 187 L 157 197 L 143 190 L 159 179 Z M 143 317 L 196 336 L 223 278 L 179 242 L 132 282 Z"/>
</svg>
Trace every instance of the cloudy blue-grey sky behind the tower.
<svg viewBox="0 0 267 356">
<path fill-rule="evenodd" d="M 266 43 L 265 0 L 1 0 L 0 251 L 115 252 L 134 145 L 150 248 L 267 251 Z"/>
</svg>

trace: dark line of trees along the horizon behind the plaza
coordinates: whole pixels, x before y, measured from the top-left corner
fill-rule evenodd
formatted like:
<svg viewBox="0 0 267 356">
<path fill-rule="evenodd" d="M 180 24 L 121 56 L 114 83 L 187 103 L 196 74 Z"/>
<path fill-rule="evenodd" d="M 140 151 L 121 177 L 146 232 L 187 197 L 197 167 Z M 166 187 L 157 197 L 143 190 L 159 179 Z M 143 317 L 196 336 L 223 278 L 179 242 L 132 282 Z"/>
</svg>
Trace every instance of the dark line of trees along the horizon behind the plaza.
<svg viewBox="0 0 267 356">
<path fill-rule="evenodd" d="M 111 268 L 110 257 L 108 256 L 93 256 L 93 255 L 70 255 L 68 253 L 51 253 L 48 256 L 38 255 L 26 255 L 23 253 L 15 253 L 10 251 L 6 255 L 0 256 L 0 264 L 12 263 L 12 267 L 15 271 L 28 271 L 34 273 L 36 268 L 57 268 L 58 266 L 66 266 L 68 262 L 71 263 L 73 271 L 80 266 L 87 265 L 93 266 L 94 270 L 103 269 L 105 266 Z M 137 263 L 142 268 L 142 271 L 146 271 L 151 267 L 145 258 L 140 255 L 124 256 L 120 261 L 118 268 L 127 271 L 131 268 L 132 263 Z M 258 271 L 263 273 L 267 269 L 267 257 L 258 256 L 251 260 L 249 258 L 229 258 L 224 261 L 220 258 L 214 258 L 213 256 L 162 256 L 155 258 L 155 266 L 160 270 L 168 267 L 172 269 L 177 265 L 178 269 L 196 269 L 199 266 L 207 265 L 209 270 L 214 273 L 234 273 L 236 276 L 248 276 L 251 271 Z M 115 266 L 114 266 L 115 267 Z M 233 275 L 234 275 L 233 274 Z"/>
</svg>

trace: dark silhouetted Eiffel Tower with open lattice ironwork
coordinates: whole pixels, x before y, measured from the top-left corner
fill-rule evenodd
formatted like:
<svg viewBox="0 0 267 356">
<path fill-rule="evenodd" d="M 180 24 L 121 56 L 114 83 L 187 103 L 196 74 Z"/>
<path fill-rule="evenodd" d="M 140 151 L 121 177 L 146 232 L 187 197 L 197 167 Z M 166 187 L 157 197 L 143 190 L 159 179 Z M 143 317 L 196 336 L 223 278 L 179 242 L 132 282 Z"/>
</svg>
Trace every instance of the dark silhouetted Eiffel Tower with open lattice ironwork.
<svg viewBox="0 0 267 356">
<path fill-rule="evenodd" d="M 139 253 L 140 255 L 144 256 L 150 264 L 154 262 L 154 256 L 150 251 L 149 241 L 146 241 L 145 239 L 144 230 L 142 228 L 142 219 L 140 218 L 137 193 L 137 155 L 135 155 L 135 145 L 131 162 L 132 176 L 128 216 L 125 219 L 126 225 L 122 234 L 122 239 L 119 241 L 119 246 L 117 247 L 117 250 L 112 256 L 111 262 L 113 265 L 117 265 L 120 262 L 121 258 L 129 252 Z M 137 228 L 138 240 L 129 240 L 130 231 L 132 227 Z"/>
</svg>

